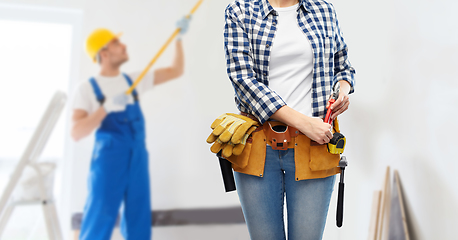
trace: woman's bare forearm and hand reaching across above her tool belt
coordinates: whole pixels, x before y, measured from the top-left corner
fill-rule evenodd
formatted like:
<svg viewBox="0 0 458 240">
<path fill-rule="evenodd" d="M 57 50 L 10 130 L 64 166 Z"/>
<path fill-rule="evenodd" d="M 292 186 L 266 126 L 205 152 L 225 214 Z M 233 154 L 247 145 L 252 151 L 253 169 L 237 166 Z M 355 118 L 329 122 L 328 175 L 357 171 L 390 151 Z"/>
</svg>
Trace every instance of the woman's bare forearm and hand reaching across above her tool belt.
<svg viewBox="0 0 458 240">
<path fill-rule="evenodd" d="M 321 118 L 308 117 L 288 106 L 278 109 L 271 118 L 297 128 L 319 144 L 328 143 L 332 139 L 330 124 L 323 122 Z"/>
</svg>

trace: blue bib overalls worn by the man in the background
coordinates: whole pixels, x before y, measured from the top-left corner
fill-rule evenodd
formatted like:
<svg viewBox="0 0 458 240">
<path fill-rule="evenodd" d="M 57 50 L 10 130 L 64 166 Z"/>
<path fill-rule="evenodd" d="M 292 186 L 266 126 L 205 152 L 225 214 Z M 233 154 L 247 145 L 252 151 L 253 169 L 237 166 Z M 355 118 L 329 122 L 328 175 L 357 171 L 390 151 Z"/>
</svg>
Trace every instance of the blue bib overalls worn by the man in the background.
<svg viewBox="0 0 458 240">
<path fill-rule="evenodd" d="M 129 85 L 131 79 L 123 74 Z M 97 82 L 90 83 L 100 103 Z M 109 113 L 95 133 L 88 185 L 89 194 L 81 225 L 81 240 L 109 240 L 119 208 L 124 203 L 121 232 L 127 240 L 151 239 L 151 204 L 145 122 L 137 92 L 134 104 Z"/>
</svg>

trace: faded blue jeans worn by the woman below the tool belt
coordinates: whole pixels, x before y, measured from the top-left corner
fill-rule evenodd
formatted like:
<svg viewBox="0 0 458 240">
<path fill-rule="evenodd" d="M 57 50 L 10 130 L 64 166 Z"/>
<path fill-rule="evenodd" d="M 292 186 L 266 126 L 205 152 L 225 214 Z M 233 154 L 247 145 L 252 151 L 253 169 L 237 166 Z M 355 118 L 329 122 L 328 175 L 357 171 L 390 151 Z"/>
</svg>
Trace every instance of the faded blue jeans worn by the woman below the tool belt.
<svg viewBox="0 0 458 240">
<path fill-rule="evenodd" d="M 252 240 L 286 239 L 285 196 L 288 239 L 322 238 L 335 175 L 296 181 L 294 149 L 272 150 L 267 146 L 264 177 L 236 172 L 235 180 Z"/>
</svg>

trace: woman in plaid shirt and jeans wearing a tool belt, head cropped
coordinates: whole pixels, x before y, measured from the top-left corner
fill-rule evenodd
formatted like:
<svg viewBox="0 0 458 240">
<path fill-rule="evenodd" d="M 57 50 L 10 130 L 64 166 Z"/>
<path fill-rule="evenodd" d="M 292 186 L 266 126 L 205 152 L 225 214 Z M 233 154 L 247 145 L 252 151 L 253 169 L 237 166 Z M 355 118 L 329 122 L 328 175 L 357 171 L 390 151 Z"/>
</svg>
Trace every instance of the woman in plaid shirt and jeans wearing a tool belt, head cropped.
<svg viewBox="0 0 458 240">
<path fill-rule="evenodd" d="M 323 0 L 236 0 L 225 14 L 235 101 L 242 115 L 263 125 L 265 135 L 253 141 L 268 144 L 247 167 L 234 167 L 251 239 L 286 239 L 285 197 L 288 239 L 321 239 L 338 173 L 338 155 L 325 150 L 333 127 L 322 118 L 339 84 L 332 119 L 348 109 L 355 74 L 334 7 Z M 288 135 L 287 148 L 274 145 L 270 134 L 285 129 L 297 134 Z"/>
</svg>

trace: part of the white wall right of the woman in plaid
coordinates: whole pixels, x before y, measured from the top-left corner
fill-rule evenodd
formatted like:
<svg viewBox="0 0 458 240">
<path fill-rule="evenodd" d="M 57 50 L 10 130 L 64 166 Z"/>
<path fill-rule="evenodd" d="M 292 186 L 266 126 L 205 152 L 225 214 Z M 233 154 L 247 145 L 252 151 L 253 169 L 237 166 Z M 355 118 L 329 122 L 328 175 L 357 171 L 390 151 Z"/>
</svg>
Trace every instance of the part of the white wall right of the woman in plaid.
<svg viewBox="0 0 458 240">
<path fill-rule="evenodd" d="M 458 2 L 332 2 L 357 71 L 341 119 L 350 165 L 340 239 L 367 238 L 387 165 L 399 170 L 413 239 L 455 239 Z"/>
</svg>

